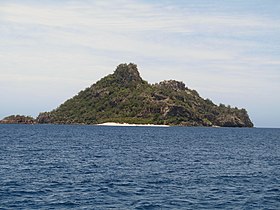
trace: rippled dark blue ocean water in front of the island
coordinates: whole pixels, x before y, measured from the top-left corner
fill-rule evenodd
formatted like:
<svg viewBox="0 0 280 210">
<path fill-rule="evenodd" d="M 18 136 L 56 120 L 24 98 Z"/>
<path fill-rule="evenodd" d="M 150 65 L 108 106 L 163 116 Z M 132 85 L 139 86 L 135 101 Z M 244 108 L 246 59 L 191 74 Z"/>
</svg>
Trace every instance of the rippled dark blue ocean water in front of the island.
<svg viewBox="0 0 280 210">
<path fill-rule="evenodd" d="M 0 209 L 280 209 L 280 129 L 0 125 Z"/>
</svg>

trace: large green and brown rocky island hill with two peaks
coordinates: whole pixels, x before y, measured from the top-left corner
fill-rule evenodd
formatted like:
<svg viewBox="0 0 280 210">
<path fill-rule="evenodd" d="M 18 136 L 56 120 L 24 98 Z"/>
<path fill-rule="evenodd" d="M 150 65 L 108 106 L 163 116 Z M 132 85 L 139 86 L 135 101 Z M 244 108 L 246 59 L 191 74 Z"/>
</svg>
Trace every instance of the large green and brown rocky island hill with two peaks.
<svg viewBox="0 0 280 210">
<path fill-rule="evenodd" d="M 135 64 L 120 64 L 110 74 L 50 112 L 37 123 L 99 124 L 105 122 L 253 127 L 245 109 L 216 105 L 183 82 L 149 84 Z"/>
</svg>

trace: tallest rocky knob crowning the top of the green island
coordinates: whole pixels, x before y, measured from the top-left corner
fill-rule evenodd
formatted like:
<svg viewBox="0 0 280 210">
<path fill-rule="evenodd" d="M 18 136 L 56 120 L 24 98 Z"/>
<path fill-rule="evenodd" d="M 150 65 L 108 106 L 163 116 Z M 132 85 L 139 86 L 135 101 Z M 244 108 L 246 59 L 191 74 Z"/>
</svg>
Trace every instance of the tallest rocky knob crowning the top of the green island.
<svg viewBox="0 0 280 210">
<path fill-rule="evenodd" d="M 137 65 L 130 64 L 120 64 L 114 72 L 114 76 L 120 82 L 142 82 L 142 78 L 140 77 L 139 71 L 137 69 Z"/>
</svg>

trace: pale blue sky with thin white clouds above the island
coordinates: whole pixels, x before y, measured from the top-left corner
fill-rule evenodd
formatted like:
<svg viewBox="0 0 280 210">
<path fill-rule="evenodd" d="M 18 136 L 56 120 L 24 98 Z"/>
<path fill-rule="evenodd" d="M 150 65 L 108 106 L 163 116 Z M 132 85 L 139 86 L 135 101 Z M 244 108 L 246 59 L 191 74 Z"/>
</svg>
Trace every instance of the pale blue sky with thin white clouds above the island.
<svg viewBox="0 0 280 210">
<path fill-rule="evenodd" d="M 0 118 L 51 111 L 120 63 L 280 127 L 279 0 L 0 0 Z"/>
</svg>

